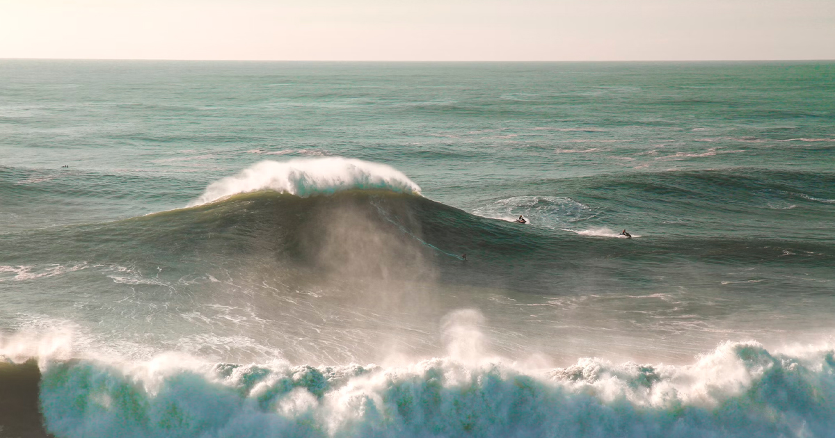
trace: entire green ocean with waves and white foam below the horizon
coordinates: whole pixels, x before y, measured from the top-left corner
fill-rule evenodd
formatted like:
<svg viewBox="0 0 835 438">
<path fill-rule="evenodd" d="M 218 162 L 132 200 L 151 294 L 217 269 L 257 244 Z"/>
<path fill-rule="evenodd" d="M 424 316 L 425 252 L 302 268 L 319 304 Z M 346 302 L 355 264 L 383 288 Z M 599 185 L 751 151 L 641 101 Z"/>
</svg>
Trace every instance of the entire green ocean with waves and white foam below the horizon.
<svg viewBox="0 0 835 438">
<path fill-rule="evenodd" d="M 832 437 L 833 230 L 835 62 L 0 60 L 0 436 Z"/>
</svg>

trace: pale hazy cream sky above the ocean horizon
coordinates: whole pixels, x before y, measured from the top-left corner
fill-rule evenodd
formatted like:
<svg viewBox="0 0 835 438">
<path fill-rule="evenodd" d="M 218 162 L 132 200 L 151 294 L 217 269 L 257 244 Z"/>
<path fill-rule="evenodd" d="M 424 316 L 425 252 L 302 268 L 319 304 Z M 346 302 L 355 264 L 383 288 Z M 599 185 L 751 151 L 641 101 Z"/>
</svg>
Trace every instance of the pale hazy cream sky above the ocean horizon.
<svg viewBox="0 0 835 438">
<path fill-rule="evenodd" d="M 835 0 L 0 0 L 0 58 L 835 59 Z"/>
</svg>

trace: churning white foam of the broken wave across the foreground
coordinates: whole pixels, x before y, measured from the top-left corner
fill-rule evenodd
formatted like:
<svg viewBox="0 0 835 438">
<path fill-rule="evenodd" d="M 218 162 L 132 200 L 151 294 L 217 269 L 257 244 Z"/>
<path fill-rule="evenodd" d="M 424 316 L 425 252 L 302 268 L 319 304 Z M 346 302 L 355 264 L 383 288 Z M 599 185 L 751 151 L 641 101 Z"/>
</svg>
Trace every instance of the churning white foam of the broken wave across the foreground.
<svg viewBox="0 0 835 438">
<path fill-rule="evenodd" d="M 805 437 L 835 428 L 831 345 L 724 342 L 686 365 L 587 357 L 553 367 L 493 354 L 485 324 L 476 310 L 453 311 L 441 324 L 443 354 L 382 365 L 173 352 L 119 360 L 79 352 L 66 333 L 0 339 L 0 357 L 21 366 L 40 355 L 39 409 L 48 432 L 69 438 Z"/>
</svg>

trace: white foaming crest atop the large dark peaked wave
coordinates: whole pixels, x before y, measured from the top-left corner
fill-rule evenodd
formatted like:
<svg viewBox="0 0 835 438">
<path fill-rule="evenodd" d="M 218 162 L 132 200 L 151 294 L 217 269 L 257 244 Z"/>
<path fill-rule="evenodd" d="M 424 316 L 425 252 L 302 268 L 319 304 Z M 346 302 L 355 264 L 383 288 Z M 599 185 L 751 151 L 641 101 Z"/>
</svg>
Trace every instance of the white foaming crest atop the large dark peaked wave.
<svg viewBox="0 0 835 438">
<path fill-rule="evenodd" d="M 405 174 L 386 164 L 341 157 L 291 159 L 285 162 L 266 160 L 240 174 L 209 184 L 200 198 L 188 206 L 208 204 L 233 194 L 259 190 L 306 198 L 351 189 L 388 190 L 416 195 L 421 193 L 420 187 Z"/>
</svg>

